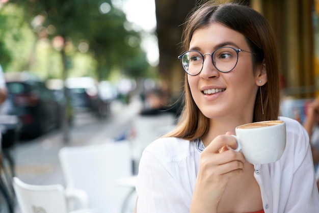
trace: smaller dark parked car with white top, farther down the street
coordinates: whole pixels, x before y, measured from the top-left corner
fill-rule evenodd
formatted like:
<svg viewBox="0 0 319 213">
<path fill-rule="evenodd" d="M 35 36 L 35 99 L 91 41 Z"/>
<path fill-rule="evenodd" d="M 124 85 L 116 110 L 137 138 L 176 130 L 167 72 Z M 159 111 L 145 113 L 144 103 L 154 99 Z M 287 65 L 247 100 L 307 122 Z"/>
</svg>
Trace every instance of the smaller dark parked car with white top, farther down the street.
<svg viewBox="0 0 319 213">
<path fill-rule="evenodd" d="M 92 77 L 69 77 L 65 86 L 76 112 L 92 112 L 98 117 L 108 114 L 108 105 L 101 99 L 98 84 Z"/>
</svg>

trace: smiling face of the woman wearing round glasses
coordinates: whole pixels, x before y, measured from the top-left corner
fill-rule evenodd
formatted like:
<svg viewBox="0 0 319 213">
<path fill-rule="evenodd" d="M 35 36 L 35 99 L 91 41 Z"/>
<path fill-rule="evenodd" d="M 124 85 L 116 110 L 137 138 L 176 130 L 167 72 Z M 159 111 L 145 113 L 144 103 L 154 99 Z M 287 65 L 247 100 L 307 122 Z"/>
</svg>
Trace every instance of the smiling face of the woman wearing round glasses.
<svg viewBox="0 0 319 213">
<path fill-rule="evenodd" d="M 221 23 L 212 23 L 207 28 L 197 29 L 190 42 L 190 50 L 198 50 L 202 54 L 212 53 L 221 46 L 251 51 L 242 34 Z M 258 81 L 258 72 L 256 76 L 253 74 L 252 54 L 245 51 L 238 53 L 237 65 L 228 73 L 218 71 L 212 64 L 210 55 L 206 54 L 202 71 L 195 76 L 188 75 L 196 105 L 211 119 L 252 118 Z M 210 94 L 207 93 L 208 90 Z"/>
</svg>

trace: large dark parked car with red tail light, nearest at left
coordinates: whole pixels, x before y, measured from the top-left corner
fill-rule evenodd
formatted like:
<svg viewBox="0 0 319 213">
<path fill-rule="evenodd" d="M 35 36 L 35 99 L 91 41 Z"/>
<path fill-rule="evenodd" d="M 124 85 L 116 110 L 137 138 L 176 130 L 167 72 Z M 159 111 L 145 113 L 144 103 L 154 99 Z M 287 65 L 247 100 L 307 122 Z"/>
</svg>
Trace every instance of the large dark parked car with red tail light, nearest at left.
<svg viewBox="0 0 319 213">
<path fill-rule="evenodd" d="M 60 105 L 55 95 L 29 72 L 5 73 L 12 112 L 22 123 L 21 135 L 38 137 L 59 127 Z"/>
</svg>

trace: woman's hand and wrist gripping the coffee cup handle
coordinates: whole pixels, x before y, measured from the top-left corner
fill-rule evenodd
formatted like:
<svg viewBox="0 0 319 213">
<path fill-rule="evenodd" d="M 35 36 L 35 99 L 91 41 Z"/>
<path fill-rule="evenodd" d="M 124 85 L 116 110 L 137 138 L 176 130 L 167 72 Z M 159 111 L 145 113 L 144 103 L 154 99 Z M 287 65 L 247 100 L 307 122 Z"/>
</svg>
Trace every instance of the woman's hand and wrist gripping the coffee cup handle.
<svg viewBox="0 0 319 213">
<path fill-rule="evenodd" d="M 231 135 L 227 132 L 216 137 L 201 153 L 191 212 L 217 211 L 229 180 L 244 174 L 244 155 L 226 147 L 236 148 L 236 139 Z"/>
</svg>

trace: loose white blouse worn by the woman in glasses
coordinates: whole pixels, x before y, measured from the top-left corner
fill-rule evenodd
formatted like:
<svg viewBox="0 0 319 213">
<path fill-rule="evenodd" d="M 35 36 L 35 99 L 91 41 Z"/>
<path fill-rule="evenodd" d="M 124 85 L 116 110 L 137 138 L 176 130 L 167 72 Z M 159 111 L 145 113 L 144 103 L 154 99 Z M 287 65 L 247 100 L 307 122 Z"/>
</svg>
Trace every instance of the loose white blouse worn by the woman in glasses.
<svg viewBox="0 0 319 213">
<path fill-rule="evenodd" d="M 286 148 L 279 161 L 256 164 L 264 212 L 319 212 L 309 137 L 302 125 L 286 122 Z M 199 169 L 201 140 L 161 138 L 143 152 L 136 190 L 138 213 L 190 211 Z"/>
</svg>

